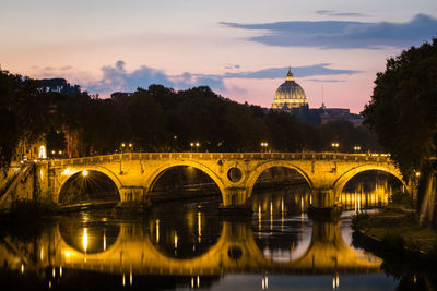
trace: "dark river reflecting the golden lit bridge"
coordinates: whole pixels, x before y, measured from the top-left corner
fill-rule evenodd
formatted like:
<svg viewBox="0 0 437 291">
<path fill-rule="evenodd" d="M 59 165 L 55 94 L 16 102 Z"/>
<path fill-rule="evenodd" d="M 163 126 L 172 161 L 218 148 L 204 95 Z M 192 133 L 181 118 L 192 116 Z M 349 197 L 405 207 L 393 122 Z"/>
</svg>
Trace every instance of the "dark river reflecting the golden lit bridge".
<svg viewBox="0 0 437 291">
<path fill-rule="evenodd" d="M 391 191 L 387 181 L 364 182 L 345 189 L 339 219 L 309 218 L 310 192 L 295 185 L 257 191 L 249 217 L 221 216 L 220 199 L 209 198 L 158 203 L 143 216 L 90 209 L 2 229 L 1 288 L 395 290 L 382 259 L 352 244 L 352 216 L 386 206 Z"/>
</svg>

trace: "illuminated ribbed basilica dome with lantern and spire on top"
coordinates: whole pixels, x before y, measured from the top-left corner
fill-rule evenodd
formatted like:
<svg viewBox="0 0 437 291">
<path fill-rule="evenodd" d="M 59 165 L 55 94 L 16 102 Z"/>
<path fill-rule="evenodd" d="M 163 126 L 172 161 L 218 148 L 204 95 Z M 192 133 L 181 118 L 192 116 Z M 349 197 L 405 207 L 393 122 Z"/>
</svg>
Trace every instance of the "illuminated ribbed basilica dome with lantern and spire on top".
<svg viewBox="0 0 437 291">
<path fill-rule="evenodd" d="M 285 82 L 274 94 L 272 109 L 291 110 L 300 107 L 308 108 L 307 97 L 304 89 L 294 81 L 292 69 L 290 69 Z"/>
</svg>

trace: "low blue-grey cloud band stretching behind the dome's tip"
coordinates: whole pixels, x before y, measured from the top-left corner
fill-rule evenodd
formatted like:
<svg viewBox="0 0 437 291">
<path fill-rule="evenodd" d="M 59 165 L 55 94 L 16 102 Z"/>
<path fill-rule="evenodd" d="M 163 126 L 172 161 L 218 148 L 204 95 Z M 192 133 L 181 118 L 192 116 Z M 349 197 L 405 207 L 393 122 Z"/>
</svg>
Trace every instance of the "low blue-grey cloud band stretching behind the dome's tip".
<svg viewBox="0 0 437 291">
<path fill-rule="evenodd" d="M 343 75 L 356 74 L 358 71 L 328 68 L 329 63 L 296 66 L 293 72 L 298 77 L 315 75 Z M 237 69 L 237 65 L 234 65 Z M 239 68 L 239 66 L 238 66 Z M 234 92 L 240 88 L 225 86 L 228 78 L 284 78 L 288 68 L 269 68 L 252 72 L 233 72 L 224 74 L 193 74 L 185 72 L 179 75 L 167 75 L 164 71 L 142 65 L 139 69 L 127 72 L 125 62 L 118 61 L 114 66 L 102 68 L 103 77 L 84 87 L 91 93 L 134 92 L 138 87 L 147 88 L 152 84 L 161 84 L 167 87 L 185 89 L 193 86 L 210 86 L 213 89 Z M 328 82 L 328 81 L 327 81 Z"/>
</svg>

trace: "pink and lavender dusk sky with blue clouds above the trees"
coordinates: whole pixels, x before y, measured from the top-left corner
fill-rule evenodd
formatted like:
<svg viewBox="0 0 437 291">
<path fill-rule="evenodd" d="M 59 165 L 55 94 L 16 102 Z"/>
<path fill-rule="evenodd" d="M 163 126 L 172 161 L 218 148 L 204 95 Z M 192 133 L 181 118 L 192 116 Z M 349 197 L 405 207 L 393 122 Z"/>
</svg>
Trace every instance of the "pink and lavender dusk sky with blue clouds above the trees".
<svg viewBox="0 0 437 291">
<path fill-rule="evenodd" d="M 102 98 L 208 85 L 270 108 L 288 66 L 310 108 L 359 112 L 377 72 L 437 37 L 435 0 L 1 0 L 0 65 Z"/>
</svg>

